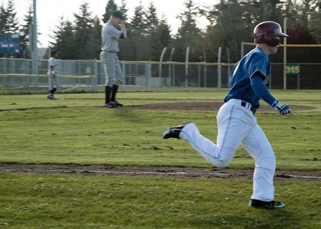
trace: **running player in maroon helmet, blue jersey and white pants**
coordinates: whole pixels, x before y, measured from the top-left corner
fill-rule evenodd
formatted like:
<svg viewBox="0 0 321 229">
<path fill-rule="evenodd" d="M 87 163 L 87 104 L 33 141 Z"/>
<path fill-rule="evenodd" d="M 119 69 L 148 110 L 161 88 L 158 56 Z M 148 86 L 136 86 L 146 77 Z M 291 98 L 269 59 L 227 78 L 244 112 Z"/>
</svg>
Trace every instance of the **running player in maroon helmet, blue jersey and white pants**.
<svg viewBox="0 0 321 229">
<path fill-rule="evenodd" d="M 266 87 L 270 75 L 269 55 L 277 53 L 281 38 L 287 36 L 282 33 L 280 24 L 273 21 L 265 21 L 255 27 L 254 42 L 257 46 L 234 66 L 230 92 L 216 116 L 216 144 L 202 136 L 193 122 L 170 127 L 162 135 L 164 139 L 187 141 L 204 159 L 217 167 L 230 164 L 241 144 L 255 160 L 253 194 L 249 206 L 256 208 L 275 209 L 285 206 L 273 200 L 276 157 L 257 123 L 255 112 L 260 107 L 260 98 L 282 115 L 291 112 L 289 106 L 280 103 Z"/>
</svg>

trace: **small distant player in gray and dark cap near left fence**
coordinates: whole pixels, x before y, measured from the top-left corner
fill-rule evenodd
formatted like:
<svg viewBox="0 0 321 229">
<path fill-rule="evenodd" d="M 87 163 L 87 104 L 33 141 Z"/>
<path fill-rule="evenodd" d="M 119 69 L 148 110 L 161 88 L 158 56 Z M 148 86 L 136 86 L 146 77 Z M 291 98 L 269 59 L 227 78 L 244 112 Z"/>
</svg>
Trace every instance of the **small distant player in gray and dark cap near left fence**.
<svg viewBox="0 0 321 229">
<path fill-rule="evenodd" d="M 59 88 L 59 78 L 57 75 L 57 67 L 58 67 L 58 53 L 57 51 L 51 52 L 51 58 L 48 60 L 48 83 L 49 83 L 49 91 L 47 98 L 50 100 L 57 100 L 54 97 L 55 91 Z"/>
</svg>

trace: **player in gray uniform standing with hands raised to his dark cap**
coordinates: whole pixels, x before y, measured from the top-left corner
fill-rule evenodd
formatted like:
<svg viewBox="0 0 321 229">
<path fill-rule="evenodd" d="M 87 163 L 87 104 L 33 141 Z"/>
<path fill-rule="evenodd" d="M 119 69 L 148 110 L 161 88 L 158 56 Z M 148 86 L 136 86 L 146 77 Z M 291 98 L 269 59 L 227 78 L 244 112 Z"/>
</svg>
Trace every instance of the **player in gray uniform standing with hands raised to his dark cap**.
<svg viewBox="0 0 321 229">
<path fill-rule="evenodd" d="M 105 107 L 117 108 L 122 107 L 116 100 L 116 94 L 118 87 L 122 85 L 122 69 L 119 64 L 118 41 L 120 38 L 127 38 L 127 32 L 125 27 L 126 18 L 119 11 L 113 11 L 109 21 L 103 26 L 101 31 L 101 50 L 100 60 L 104 65 L 105 70 Z M 116 26 L 121 25 L 121 31 L 116 29 Z M 110 97 L 111 93 L 111 97 Z"/>
</svg>

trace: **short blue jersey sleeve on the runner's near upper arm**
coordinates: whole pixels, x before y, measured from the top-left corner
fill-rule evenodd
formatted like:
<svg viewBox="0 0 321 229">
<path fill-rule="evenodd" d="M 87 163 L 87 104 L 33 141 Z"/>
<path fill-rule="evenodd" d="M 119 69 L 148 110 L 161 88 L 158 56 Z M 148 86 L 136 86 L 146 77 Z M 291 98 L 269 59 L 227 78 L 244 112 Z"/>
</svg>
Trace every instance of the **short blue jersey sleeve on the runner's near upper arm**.
<svg viewBox="0 0 321 229">
<path fill-rule="evenodd" d="M 251 58 L 248 66 L 249 79 L 253 77 L 256 72 L 260 72 L 266 79 L 269 77 L 270 61 L 267 55 L 256 53 Z"/>
</svg>

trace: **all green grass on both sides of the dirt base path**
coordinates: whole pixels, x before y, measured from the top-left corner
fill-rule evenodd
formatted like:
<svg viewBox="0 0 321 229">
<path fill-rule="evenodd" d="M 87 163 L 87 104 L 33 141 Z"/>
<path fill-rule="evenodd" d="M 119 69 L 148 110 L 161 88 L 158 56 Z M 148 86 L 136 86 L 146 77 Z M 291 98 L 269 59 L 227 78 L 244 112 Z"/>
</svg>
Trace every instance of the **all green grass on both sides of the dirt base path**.
<svg viewBox="0 0 321 229">
<path fill-rule="evenodd" d="M 222 101 L 226 91 L 124 92 L 126 105 Z M 311 109 L 258 112 L 277 169 L 320 170 L 321 91 L 272 91 Z M 213 167 L 169 125 L 194 121 L 215 142 L 217 111 L 104 109 L 102 93 L 0 95 L 1 163 Z M 262 104 L 265 104 L 262 102 Z M 254 168 L 239 147 L 230 168 Z M 319 228 L 320 182 L 276 182 L 286 208 L 248 208 L 248 180 L 0 173 L 0 228 Z"/>
</svg>

